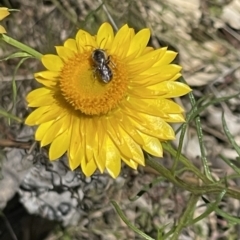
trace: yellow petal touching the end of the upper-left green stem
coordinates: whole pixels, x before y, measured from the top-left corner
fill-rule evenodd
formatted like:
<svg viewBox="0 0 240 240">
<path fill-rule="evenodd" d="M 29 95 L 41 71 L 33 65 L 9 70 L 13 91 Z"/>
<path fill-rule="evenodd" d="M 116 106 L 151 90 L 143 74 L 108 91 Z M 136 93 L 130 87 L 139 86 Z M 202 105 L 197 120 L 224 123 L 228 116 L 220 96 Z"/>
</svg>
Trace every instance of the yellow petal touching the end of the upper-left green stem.
<svg viewBox="0 0 240 240">
<path fill-rule="evenodd" d="M 44 67 L 50 71 L 60 72 L 64 66 L 62 59 L 57 55 L 43 55 L 41 60 Z"/>
</svg>

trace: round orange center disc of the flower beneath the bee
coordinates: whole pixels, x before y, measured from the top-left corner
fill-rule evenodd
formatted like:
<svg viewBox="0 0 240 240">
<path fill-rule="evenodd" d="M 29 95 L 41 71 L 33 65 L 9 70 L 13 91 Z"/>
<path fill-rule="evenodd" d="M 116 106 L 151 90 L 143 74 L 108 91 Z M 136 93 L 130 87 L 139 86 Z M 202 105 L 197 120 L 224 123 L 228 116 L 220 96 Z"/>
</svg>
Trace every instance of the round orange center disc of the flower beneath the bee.
<svg viewBox="0 0 240 240">
<path fill-rule="evenodd" d="M 124 63 L 110 56 L 107 65 L 112 72 L 112 79 L 105 83 L 91 54 L 86 51 L 68 59 L 60 75 L 60 89 L 65 100 L 75 110 L 86 115 L 106 114 L 126 95 L 127 71 Z"/>
</svg>

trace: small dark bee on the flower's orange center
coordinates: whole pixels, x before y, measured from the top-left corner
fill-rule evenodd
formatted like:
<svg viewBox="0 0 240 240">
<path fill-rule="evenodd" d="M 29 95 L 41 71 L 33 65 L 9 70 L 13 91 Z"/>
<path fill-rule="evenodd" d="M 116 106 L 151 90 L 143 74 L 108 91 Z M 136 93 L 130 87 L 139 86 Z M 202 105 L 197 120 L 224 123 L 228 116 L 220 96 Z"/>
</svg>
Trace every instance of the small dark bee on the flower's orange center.
<svg viewBox="0 0 240 240">
<path fill-rule="evenodd" d="M 92 52 L 92 60 L 94 63 L 94 72 L 97 72 L 104 83 L 112 80 L 113 72 L 109 67 L 110 56 L 103 49 L 95 49 Z"/>
</svg>

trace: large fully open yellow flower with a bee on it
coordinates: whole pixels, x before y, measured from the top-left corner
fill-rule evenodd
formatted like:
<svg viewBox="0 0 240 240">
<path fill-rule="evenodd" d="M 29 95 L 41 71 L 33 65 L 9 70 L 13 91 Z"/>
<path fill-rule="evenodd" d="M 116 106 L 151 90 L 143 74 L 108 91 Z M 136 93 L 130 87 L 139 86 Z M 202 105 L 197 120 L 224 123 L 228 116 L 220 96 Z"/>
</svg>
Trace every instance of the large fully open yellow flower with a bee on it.
<svg viewBox="0 0 240 240">
<path fill-rule="evenodd" d="M 121 160 L 136 169 L 144 165 L 143 150 L 162 157 L 161 141 L 175 138 L 168 122 L 184 121 L 171 98 L 191 89 L 175 81 L 181 76 L 181 67 L 170 64 L 176 53 L 147 47 L 149 38 L 149 29 L 135 33 L 124 25 L 114 35 L 104 23 L 96 36 L 79 30 L 56 47 L 57 55 L 42 57 L 47 70 L 35 78 L 44 87 L 27 96 L 37 109 L 26 124 L 39 125 L 35 138 L 50 144 L 50 160 L 67 152 L 72 170 L 81 166 L 90 176 L 106 169 L 116 178 Z"/>
</svg>

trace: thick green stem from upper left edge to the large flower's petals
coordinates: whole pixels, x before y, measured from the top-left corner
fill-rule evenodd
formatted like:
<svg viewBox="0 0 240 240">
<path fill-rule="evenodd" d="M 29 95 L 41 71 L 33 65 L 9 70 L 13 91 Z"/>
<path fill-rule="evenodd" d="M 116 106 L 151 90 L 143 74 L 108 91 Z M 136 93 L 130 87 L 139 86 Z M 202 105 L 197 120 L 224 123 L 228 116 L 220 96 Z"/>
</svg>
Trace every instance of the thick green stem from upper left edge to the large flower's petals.
<svg viewBox="0 0 240 240">
<path fill-rule="evenodd" d="M 0 35 L 0 38 L 5 41 L 6 43 L 26 52 L 26 53 L 29 53 L 31 56 L 37 58 L 37 59 L 41 59 L 42 57 L 42 54 L 39 53 L 38 51 L 34 50 L 33 48 L 5 35 L 5 34 L 1 34 Z"/>
</svg>

